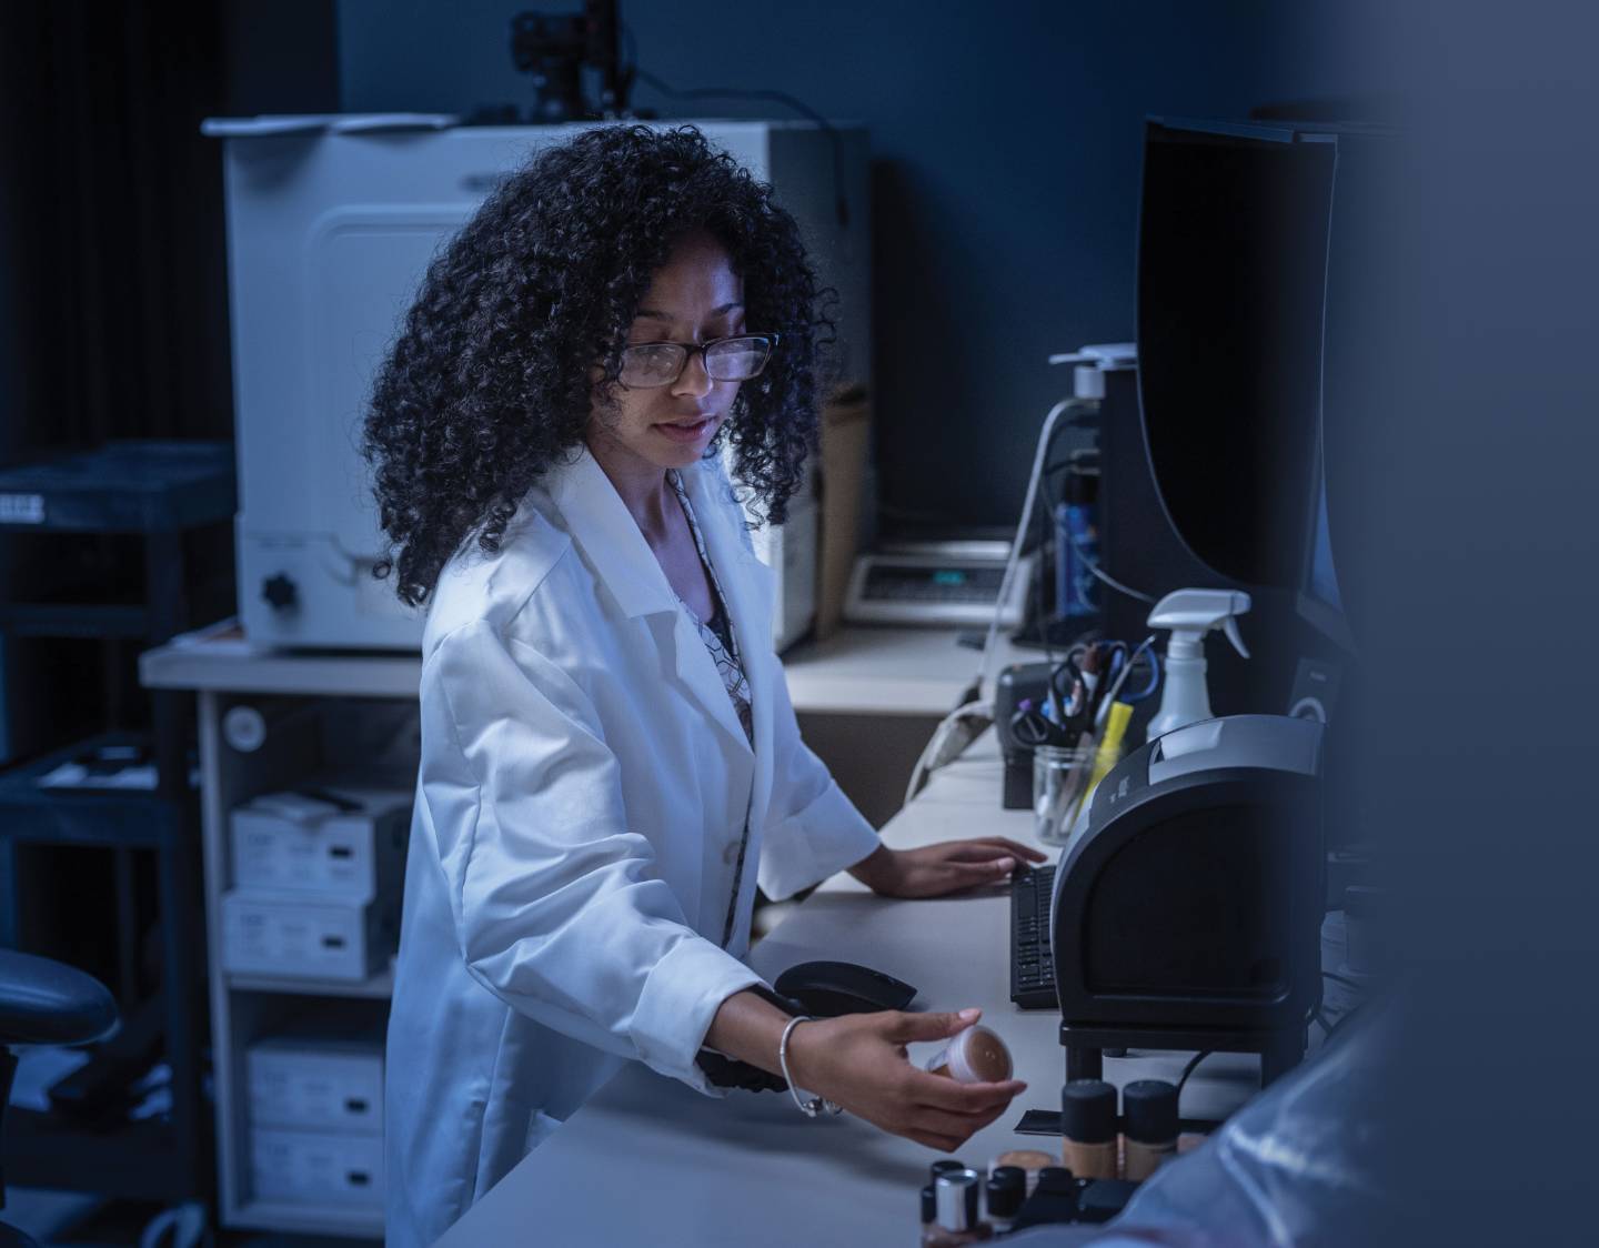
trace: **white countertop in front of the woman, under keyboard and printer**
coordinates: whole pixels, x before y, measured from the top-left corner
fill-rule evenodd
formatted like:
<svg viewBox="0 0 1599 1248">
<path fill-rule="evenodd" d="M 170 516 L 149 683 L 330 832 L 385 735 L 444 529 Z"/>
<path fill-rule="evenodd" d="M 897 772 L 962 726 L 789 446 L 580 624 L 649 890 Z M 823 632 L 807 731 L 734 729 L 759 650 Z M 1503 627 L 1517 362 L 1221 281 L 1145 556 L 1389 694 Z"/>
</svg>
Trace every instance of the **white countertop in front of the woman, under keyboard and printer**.
<svg viewBox="0 0 1599 1248">
<path fill-rule="evenodd" d="M 883 828 L 894 849 L 971 836 L 1023 844 L 1031 812 L 999 809 L 993 732 L 939 770 Z M 1060 1015 L 1011 1004 L 1011 900 L 982 893 L 902 901 L 871 895 L 847 874 L 822 884 L 750 952 L 768 981 L 812 959 L 865 962 L 918 989 L 915 1010 L 980 1007 L 983 1024 L 1011 1048 L 1028 1090 L 955 1155 L 980 1171 L 1011 1149 L 1059 1154 L 1051 1136 L 1019 1135 L 1023 1111 L 1059 1111 L 1065 1050 Z M 910 1045 L 924 1063 L 935 1045 Z M 1105 1079 L 1177 1082 L 1188 1053 L 1105 1058 Z M 1218 1120 L 1260 1090 L 1260 1059 L 1217 1053 L 1183 1088 L 1183 1117 Z M 547 1243 L 651 1243 L 702 1248 L 760 1242 L 910 1243 L 919 1234 L 918 1192 L 943 1154 L 847 1114 L 806 1119 L 787 1095 L 732 1091 L 708 1098 L 641 1064 L 617 1074 L 529 1154 L 440 1240 L 440 1248 L 510 1243 L 536 1227 Z M 608 1200 L 620 1168 L 628 1200 Z M 737 1230 L 736 1230 L 737 1229 Z"/>
</svg>

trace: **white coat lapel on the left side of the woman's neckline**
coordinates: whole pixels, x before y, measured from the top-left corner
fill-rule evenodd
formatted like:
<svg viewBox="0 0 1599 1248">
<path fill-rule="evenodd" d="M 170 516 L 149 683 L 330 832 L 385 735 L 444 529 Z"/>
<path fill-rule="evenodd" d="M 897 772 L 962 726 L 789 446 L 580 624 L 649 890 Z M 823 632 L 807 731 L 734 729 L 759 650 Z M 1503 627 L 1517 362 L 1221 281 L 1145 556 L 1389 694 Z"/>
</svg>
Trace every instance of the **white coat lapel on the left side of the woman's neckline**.
<svg viewBox="0 0 1599 1248">
<path fill-rule="evenodd" d="M 660 570 L 660 562 L 638 531 L 638 523 L 616 492 L 616 486 L 611 484 L 611 478 L 584 447 L 572 463 L 552 473 L 547 487 L 566 519 L 572 540 L 622 612 L 643 622 L 662 649 L 664 662 L 694 700 L 742 751 L 748 753 L 748 738 L 728 698 L 728 687 L 721 682 L 716 663 L 700 641 L 694 622 L 678 604 L 667 574 Z M 739 644 L 744 646 L 742 633 Z"/>
</svg>

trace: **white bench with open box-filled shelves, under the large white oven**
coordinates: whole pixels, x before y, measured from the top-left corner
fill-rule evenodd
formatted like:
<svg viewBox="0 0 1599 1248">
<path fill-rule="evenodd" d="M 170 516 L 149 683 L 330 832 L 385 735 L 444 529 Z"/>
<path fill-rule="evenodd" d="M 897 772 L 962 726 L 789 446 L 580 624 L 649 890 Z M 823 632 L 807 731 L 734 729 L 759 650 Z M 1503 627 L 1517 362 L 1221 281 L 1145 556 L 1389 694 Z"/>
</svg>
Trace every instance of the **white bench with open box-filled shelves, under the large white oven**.
<svg viewBox="0 0 1599 1248">
<path fill-rule="evenodd" d="M 785 665 L 790 695 L 801 714 L 823 721 L 870 714 L 879 735 L 884 719 L 915 721 L 953 706 L 972 662 L 969 652 L 956 647 L 953 633 L 844 630 L 822 646 L 798 647 Z M 333 746 L 358 756 L 363 716 L 374 722 L 414 716 L 421 670 L 421 657 L 411 652 L 331 654 L 257 646 L 232 622 L 174 638 L 141 660 L 147 687 L 197 692 L 217 1208 L 225 1227 L 373 1238 L 382 1234 L 381 1211 L 254 1197 L 245 1053 L 254 1039 L 296 1012 L 331 1000 L 369 1002 L 374 1013 L 382 1012 L 392 973 L 360 983 L 229 975 L 222 970 L 217 933 L 221 900 L 233 884 L 229 812 L 257 794 L 302 781 L 331 761 Z M 302 713 L 309 700 L 321 700 L 321 709 Z M 253 753 L 229 746 L 222 732 L 224 717 L 241 703 L 261 709 L 267 719 L 277 709 L 285 711 L 281 730 L 269 727 L 265 743 Z M 345 721 L 334 722 L 341 714 Z M 414 759 L 406 762 L 414 780 Z"/>
</svg>

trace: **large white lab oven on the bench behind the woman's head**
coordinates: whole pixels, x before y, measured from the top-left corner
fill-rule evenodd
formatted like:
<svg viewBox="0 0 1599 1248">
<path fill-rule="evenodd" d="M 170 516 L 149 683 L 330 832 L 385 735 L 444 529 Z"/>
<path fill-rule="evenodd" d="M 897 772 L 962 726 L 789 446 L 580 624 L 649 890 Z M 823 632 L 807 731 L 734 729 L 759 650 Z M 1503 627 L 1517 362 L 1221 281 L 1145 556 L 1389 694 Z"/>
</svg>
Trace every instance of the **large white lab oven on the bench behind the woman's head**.
<svg viewBox="0 0 1599 1248">
<path fill-rule="evenodd" d="M 841 376 L 870 384 L 865 131 L 838 129 L 835 165 L 811 123 L 696 125 L 800 221 L 822 283 L 839 294 Z M 421 614 L 371 577 L 382 542 L 360 428 L 373 374 L 440 244 L 508 171 L 577 129 L 414 117 L 206 123 L 225 144 L 238 610 L 251 641 L 421 644 Z M 814 614 L 817 511 L 804 502 L 756 542 L 779 578 L 779 649 Z"/>
</svg>

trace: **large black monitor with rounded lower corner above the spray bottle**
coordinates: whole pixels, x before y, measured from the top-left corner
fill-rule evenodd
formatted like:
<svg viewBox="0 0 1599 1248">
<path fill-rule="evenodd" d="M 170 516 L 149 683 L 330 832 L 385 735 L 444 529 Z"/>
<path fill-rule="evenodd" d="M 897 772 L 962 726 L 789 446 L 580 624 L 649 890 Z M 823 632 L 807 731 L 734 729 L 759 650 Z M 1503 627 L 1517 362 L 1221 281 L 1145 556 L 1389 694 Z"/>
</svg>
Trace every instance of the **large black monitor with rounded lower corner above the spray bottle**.
<svg viewBox="0 0 1599 1248">
<path fill-rule="evenodd" d="M 1295 591 L 1316 476 L 1337 149 L 1276 133 L 1150 123 L 1138 387 L 1177 534 L 1225 578 Z"/>
</svg>

